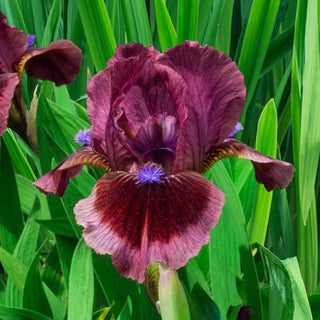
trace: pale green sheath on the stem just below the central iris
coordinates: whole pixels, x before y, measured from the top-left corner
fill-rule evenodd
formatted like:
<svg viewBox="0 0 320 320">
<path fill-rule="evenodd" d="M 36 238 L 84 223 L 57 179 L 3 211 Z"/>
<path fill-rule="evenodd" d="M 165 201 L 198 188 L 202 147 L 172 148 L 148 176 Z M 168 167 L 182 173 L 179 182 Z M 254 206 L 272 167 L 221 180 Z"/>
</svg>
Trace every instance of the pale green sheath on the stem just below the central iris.
<svg viewBox="0 0 320 320">
<path fill-rule="evenodd" d="M 176 270 L 159 264 L 159 300 L 163 320 L 188 320 L 189 305 Z"/>
</svg>

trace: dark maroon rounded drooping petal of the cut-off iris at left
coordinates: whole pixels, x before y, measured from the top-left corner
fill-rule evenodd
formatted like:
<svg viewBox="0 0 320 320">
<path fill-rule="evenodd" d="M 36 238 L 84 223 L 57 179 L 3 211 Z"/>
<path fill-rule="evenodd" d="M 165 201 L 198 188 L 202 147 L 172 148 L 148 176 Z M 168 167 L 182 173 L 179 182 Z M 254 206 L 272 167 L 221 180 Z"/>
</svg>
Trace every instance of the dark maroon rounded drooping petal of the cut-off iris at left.
<svg viewBox="0 0 320 320">
<path fill-rule="evenodd" d="M 69 40 L 58 40 L 46 48 L 28 48 L 22 64 L 29 76 L 61 86 L 75 79 L 81 61 L 81 50 L 76 45 Z"/>
</svg>

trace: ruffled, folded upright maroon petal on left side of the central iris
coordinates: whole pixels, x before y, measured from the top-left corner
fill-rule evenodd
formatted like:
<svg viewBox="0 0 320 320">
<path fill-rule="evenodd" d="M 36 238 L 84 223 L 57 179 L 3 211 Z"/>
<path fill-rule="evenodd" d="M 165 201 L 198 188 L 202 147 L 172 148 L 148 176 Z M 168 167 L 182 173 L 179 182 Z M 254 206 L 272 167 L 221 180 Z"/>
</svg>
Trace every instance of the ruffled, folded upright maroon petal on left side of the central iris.
<svg viewBox="0 0 320 320">
<path fill-rule="evenodd" d="M 113 171 L 129 170 L 132 163 L 140 159 L 128 138 L 137 133 L 150 112 L 146 112 L 145 101 L 141 102 L 141 95 L 134 88 L 157 54 L 157 50 L 141 44 L 119 46 L 115 58 L 108 61 L 108 68 L 89 81 L 87 105 L 92 146 L 106 154 Z M 133 92 L 132 99 L 127 98 L 128 92 Z"/>
</svg>

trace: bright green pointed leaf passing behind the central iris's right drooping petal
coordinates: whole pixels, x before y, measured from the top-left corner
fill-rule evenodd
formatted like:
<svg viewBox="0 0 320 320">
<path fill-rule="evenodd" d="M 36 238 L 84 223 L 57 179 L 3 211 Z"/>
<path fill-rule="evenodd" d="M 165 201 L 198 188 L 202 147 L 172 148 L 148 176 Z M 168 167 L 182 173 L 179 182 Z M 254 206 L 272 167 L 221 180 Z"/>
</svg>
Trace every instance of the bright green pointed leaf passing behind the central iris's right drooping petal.
<svg viewBox="0 0 320 320">
<path fill-rule="evenodd" d="M 277 113 L 273 99 L 261 113 L 256 149 L 263 154 L 275 158 L 277 155 Z M 272 202 L 272 191 L 268 192 L 262 184 L 258 185 L 255 210 L 248 226 L 250 242 L 264 244 Z"/>
</svg>

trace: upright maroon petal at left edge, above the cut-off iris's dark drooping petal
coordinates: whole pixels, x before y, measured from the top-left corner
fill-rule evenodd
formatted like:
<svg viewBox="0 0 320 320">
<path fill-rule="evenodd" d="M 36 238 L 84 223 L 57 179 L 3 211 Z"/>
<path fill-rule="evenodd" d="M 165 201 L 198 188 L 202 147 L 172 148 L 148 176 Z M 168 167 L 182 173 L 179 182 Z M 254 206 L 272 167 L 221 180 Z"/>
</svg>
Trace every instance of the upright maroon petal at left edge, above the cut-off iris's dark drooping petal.
<svg viewBox="0 0 320 320">
<path fill-rule="evenodd" d="M 27 49 L 26 34 L 14 26 L 7 25 L 6 17 L 0 16 L 0 66 L 2 72 L 17 71 L 16 67 Z"/>
</svg>

